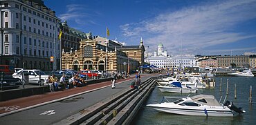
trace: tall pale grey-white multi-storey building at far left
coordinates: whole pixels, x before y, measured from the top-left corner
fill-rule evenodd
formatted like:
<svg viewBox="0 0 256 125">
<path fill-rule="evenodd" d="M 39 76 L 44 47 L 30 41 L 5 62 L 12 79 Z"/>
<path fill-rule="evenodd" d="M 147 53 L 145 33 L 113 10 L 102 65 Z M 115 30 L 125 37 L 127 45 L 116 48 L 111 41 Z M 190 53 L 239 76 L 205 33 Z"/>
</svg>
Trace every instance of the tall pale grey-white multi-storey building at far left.
<svg viewBox="0 0 256 125">
<path fill-rule="evenodd" d="M 60 19 L 44 1 L 1 0 L 1 64 L 53 70 L 60 62 Z M 51 57 L 54 61 L 51 62 Z"/>
</svg>

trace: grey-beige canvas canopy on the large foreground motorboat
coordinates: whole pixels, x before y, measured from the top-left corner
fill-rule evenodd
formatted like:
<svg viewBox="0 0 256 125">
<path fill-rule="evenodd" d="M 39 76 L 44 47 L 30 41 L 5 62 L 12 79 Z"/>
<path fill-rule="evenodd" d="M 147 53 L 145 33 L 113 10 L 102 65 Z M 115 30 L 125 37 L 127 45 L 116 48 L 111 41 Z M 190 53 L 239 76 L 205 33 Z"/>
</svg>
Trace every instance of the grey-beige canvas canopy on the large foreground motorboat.
<svg viewBox="0 0 256 125">
<path fill-rule="evenodd" d="M 221 106 L 213 95 L 195 95 L 190 97 L 194 102 L 205 104 L 208 106 Z"/>
</svg>

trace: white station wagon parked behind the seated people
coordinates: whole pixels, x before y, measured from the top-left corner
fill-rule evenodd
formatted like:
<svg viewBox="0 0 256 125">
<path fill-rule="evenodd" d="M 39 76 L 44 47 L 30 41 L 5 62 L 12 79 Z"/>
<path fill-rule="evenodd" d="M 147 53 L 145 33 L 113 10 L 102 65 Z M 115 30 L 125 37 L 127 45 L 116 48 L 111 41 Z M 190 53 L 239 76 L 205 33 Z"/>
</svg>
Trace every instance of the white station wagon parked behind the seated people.
<svg viewBox="0 0 256 125">
<path fill-rule="evenodd" d="M 22 74 L 28 75 L 28 83 L 29 84 L 39 84 L 43 83 L 44 79 L 48 77 L 44 72 L 41 70 L 19 70 L 17 73 L 13 73 L 12 77 L 19 78 L 22 81 Z M 39 79 L 39 75 L 41 75 L 41 79 Z"/>
</svg>

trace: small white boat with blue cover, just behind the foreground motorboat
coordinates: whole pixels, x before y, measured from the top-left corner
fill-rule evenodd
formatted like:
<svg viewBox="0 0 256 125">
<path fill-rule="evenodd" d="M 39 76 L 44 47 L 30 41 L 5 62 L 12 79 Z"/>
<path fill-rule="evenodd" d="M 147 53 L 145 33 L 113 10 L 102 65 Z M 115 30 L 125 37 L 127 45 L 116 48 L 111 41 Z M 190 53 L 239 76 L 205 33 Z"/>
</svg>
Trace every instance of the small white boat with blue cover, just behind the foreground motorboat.
<svg viewBox="0 0 256 125">
<path fill-rule="evenodd" d="M 172 82 L 172 84 L 166 84 L 165 86 L 157 86 L 161 92 L 169 93 L 196 93 L 197 88 L 189 86 L 182 86 L 181 82 Z"/>
</svg>

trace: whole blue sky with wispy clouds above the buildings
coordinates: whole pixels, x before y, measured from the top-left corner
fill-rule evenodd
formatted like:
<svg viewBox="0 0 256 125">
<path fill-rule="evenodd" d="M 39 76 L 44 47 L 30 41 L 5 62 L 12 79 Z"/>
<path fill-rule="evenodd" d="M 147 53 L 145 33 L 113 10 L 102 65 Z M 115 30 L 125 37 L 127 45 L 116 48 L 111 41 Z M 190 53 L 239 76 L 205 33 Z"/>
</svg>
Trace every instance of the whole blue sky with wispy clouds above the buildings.
<svg viewBox="0 0 256 125">
<path fill-rule="evenodd" d="M 169 55 L 256 53 L 256 0 L 44 0 L 82 32 Z M 147 55 L 146 53 L 146 55 Z"/>
</svg>

